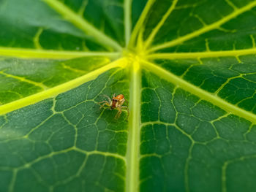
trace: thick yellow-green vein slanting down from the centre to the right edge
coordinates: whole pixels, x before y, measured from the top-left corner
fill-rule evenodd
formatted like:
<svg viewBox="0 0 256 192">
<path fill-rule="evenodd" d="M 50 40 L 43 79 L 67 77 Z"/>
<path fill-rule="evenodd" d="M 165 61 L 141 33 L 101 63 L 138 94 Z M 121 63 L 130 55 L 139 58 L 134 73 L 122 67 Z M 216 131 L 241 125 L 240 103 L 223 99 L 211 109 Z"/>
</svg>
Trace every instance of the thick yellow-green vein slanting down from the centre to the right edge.
<svg viewBox="0 0 256 192">
<path fill-rule="evenodd" d="M 240 116 L 241 118 L 250 120 L 252 123 L 256 123 L 256 115 L 253 114 L 252 112 L 248 112 L 246 110 L 243 110 L 243 109 L 237 107 L 234 104 L 230 104 L 227 101 L 225 101 L 224 99 L 221 99 L 214 94 L 208 93 L 207 91 L 204 91 L 203 89 L 200 89 L 197 86 L 192 85 L 191 83 L 189 83 L 185 80 L 182 80 L 180 77 L 176 76 L 175 74 L 172 74 L 155 64 L 151 64 L 148 61 L 143 61 L 143 67 L 146 67 L 146 69 L 149 69 L 151 72 L 158 74 L 159 77 L 162 77 L 165 80 L 172 82 L 175 85 L 178 85 L 179 87 L 183 88 L 185 91 L 189 91 L 190 93 L 194 94 L 195 96 L 200 97 L 200 99 L 209 101 L 212 104 L 222 108 L 223 110 L 225 110 L 227 112 L 231 112 L 234 115 Z"/>
</svg>

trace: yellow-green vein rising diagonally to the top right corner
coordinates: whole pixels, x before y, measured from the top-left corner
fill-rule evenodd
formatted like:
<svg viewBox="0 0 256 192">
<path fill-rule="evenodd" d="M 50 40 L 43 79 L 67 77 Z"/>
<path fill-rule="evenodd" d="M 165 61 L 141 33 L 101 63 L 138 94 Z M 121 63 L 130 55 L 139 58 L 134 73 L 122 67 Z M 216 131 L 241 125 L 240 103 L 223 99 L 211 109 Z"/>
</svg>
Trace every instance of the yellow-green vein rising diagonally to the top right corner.
<svg viewBox="0 0 256 192">
<path fill-rule="evenodd" d="M 248 11 L 249 9 L 252 9 L 252 7 L 255 7 L 255 6 L 256 6 L 256 1 L 252 1 L 251 3 L 247 4 L 244 7 L 241 7 L 240 9 L 235 9 L 230 15 L 226 15 L 224 18 L 222 18 L 221 20 L 218 20 L 215 23 L 212 23 L 211 25 L 204 26 L 203 28 L 200 28 L 199 30 L 194 31 L 191 34 L 187 34 L 185 36 L 179 37 L 178 39 L 174 39 L 173 41 L 165 42 L 161 45 L 152 47 L 150 50 L 148 50 L 148 52 L 153 52 L 166 47 L 172 47 L 172 46 L 178 45 L 181 42 L 197 37 L 200 34 L 206 33 L 207 31 L 211 31 L 214 28 L 218 28 L 219 26 L 222 26 L 222 24 L 226 23 L 227 21 L 233 18 L 236 18 L 238 15 Z"/>
</svg>

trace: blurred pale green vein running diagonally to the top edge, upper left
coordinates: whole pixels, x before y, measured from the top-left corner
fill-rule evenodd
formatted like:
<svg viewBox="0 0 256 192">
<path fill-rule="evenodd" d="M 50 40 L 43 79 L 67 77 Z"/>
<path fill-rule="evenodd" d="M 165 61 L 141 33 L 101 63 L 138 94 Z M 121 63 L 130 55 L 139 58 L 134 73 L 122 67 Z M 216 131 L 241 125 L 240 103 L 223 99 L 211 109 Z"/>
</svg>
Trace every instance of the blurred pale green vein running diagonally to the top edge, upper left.
<svg viewBox="0 0 256 192">
<path fill-rule="evenodd" d="M 49 4 L 49 6 L 55 9 L 57 12 L 59 12 L 66 20 L 69 20 L 75 26 L 85 31 L 86 34 L 89 34 L 95 39 L 97 39 L 98 42 L 102 43 L 103 45 L 113 47 L 115 50 L 122 50 L 122 47 L 115 40 L 111 39 L 110 37 L 102 33 L 102 31 L 99 31 L 97 28 L 92 26 L 84 18 L 78 15 L 78 13 L 73 12 L 72 9 L 69 9 L 69 7 L 62 4 L 61 1 L 43 1 Z"/>
</svg>

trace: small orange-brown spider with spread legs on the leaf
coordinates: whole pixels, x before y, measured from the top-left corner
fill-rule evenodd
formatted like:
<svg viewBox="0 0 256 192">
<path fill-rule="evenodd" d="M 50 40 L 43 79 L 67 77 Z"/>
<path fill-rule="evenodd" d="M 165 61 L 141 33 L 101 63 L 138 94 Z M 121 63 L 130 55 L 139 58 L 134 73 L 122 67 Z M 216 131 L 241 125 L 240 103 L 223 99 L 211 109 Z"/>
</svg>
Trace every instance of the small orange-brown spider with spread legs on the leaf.
<svg viewBox="0 0 256 192">
<path fill-rule="evenodd" d="M 112 100 L 110 99 L 109 96 L 103 95 L 105 97 L 108 98 L 108 101 L 101 101 L 98 104 L 104 103 L 102 104 L 99 109 L 101 109 L 102 107 L 104 107 L 105 105 L 111 107 L 110 110 L 113 110 L 115 108 L 117 108 L 118 112 L 116 113 L 115 118 L 118 119 L 121 115 L 122 109 L 127 109 L 127 118 L 129 116 L 129 109 L 127 106 L 122 106 L 124 104 L 124 101 L 126 101 L 124 99 L 124 95 L 120 94 L 118 96 L 116 96 L 116 93 L 113 94 L 112 96 Z"/>
</svg>

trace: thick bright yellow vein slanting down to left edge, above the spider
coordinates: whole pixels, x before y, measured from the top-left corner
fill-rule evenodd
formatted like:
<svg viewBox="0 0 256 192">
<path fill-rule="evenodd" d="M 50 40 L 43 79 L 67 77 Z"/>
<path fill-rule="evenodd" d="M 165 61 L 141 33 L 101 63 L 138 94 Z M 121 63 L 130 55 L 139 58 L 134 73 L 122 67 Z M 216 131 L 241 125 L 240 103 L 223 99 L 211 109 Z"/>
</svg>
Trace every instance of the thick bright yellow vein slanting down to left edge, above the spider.
<svg viewBox="0 0 256 192">
<path fill-rule="evenodd" d="M 127 59 L 126 58 L 118 59 L 117 61 L 115 61 L 111 64 L 103 66 L 102 68 L 99 68 L 99 69 L 95 70 L 94 72 L 85 74 L 82 77 L 78 77 L 75 80 L 70 80 L 69 82 L 65 82 L 56 87 L 49 88 L 46 91 L 42 91 L 40 93 L 36 93 L 34 95 L 27 96 L 23 99 L 19 99 L 17 101 L 10 102 L 9 104 L 4 104 L 4 105 L 0 106 L 0 115 L 3 115 L 7 112 L 12 112 L 14 110 L 18 110 L 18 109 L 20 109 L 22 107 L 26 107 L 30 104 L 35 104 L 44 99 L 48 99 L 53 96 L 57 96 L 59 93 L 69 91 L 70 89 L 76 88 L 79 85 L 82 85 L 83 83 L 88 82 L 89 80 L 93 80 L 99 74 L 102 74 L 103 72 L 106 72 L 109 69 L 113 69 L 115 67 L 125 67 L 125 66 L 127 66 Z"/>
</svg>

